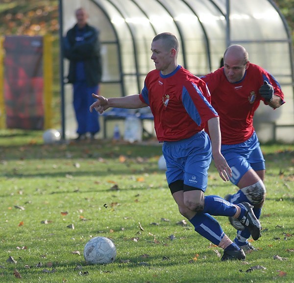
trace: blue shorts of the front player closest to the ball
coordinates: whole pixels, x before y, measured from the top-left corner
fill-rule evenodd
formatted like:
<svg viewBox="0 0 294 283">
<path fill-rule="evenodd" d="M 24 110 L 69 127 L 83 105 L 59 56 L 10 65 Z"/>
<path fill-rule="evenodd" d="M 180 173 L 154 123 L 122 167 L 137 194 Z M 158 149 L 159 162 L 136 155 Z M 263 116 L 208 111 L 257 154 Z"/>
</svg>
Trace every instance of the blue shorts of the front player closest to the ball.
<svg viewBox="0 0 294 283">
<path fill-rule="evenodd" d="M 164 142 L 162 152 L 167 164 L 167 181 L 183 181 L 184 185 L 205 192 L 211 162 L 211 142 L 201 131 L 189 139 Z"/>
</svg>

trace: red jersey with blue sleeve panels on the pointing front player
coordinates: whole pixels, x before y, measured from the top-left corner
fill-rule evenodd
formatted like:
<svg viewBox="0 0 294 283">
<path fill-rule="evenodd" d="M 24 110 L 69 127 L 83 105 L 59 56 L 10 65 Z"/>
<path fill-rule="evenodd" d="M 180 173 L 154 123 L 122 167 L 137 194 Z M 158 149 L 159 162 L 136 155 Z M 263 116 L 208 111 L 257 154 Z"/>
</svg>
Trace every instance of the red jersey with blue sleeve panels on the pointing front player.
<svg viewBox="0 0 294 283">
<path fill-rule="evenodd" d="M 218 117 L 206 84 L 179 65 L 169 75 L 149 72 L 140 99 L 150 106 L 159 142 L 190 138 Z"/>
</svg>

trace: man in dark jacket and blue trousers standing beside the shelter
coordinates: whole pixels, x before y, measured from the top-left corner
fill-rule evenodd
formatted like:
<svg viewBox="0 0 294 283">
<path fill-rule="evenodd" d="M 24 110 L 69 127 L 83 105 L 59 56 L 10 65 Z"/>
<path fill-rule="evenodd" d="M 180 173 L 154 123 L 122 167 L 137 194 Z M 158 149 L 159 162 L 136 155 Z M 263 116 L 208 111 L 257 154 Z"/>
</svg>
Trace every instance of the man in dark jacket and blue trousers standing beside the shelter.
<svg viewBox="0 0 294 283">
<path fill-rule="evenodd" d="M 75 10 L 76 24 L 69 29 L 64 42 L 64 56 L 70 60 L 68 82 L 73 84 L 73 108 L 77 121 L 76 140 L 90 133 L 91 139 L 100 130 L 98 113 L 90 113 L 101 81 L 99 32 L 87 23 L 88 14 L 83 8 Z"/>
</svg>

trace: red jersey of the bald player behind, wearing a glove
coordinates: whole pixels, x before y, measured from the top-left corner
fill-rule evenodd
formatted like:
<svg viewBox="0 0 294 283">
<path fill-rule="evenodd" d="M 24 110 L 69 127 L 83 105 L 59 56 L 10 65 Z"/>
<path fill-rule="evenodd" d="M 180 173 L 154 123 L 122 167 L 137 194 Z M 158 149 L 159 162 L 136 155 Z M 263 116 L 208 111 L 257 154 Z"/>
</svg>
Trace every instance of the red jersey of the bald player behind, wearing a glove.
<svg viewBox="0 0 294 283">
<path fill-rule="evenodd" d="M 223 67 L 201 77 L 211 93 L 211 104 L 220 115 L 221 143 L 237 144 L 248 140 L 253 132 L 253 115 L 260 101 L 259 88 L 267 81 L 273 86 L 274 94 L 284 99 L 277 81 L 265 69 L 249 63 L 244 78 L 229 83 Z"/>
</svg>

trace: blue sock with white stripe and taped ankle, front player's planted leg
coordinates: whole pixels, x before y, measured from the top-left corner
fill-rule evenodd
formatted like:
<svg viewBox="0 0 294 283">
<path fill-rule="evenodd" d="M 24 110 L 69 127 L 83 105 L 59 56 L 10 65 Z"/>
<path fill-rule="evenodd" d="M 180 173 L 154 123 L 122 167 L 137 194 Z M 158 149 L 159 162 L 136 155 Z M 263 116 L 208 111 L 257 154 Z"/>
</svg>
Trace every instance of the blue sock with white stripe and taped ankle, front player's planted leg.
<svg viewBox="0 0 294 283">
<path fill-rule="evenodd" d="M 196 214 L 190 222 L 195 227 L 197 233 L 213 244 L 220 246 L 223 239 L 226 239 L 226 243 L 229 244 L 226 244 L 225 250 L 238 251 L 240 249 L 225 235 L 220 224 L 211 215 L 207 213 Z"/>
</svg>

